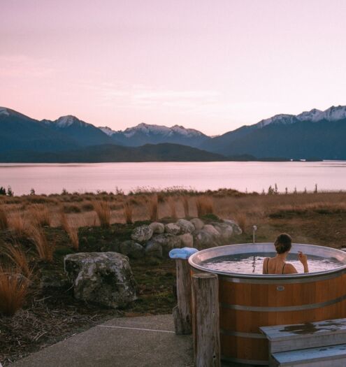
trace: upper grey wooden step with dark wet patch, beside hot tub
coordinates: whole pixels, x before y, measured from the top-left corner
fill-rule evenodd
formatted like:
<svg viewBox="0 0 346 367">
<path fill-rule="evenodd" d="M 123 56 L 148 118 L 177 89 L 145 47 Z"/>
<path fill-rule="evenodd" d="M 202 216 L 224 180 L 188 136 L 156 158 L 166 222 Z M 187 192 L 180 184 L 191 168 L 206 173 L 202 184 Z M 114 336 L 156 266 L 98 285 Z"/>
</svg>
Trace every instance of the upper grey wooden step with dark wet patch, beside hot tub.
<svg viewBox="0 0 346 367">
<path fill-rule="evenodd" d="M 262 326 L 259 329 L 268 338 L 269 355 L 276 352 L 346 343 L 346 319 L 331 319 L 295 325 Z"/>
</svg>

